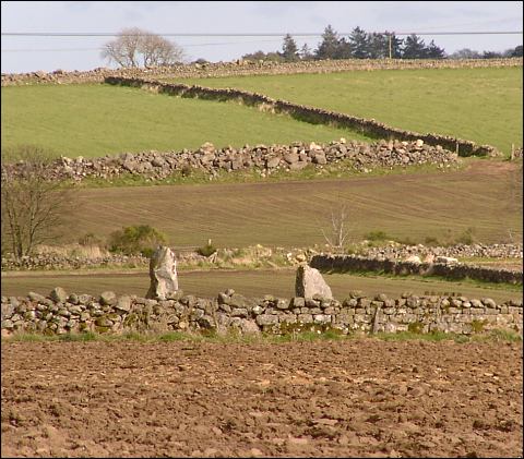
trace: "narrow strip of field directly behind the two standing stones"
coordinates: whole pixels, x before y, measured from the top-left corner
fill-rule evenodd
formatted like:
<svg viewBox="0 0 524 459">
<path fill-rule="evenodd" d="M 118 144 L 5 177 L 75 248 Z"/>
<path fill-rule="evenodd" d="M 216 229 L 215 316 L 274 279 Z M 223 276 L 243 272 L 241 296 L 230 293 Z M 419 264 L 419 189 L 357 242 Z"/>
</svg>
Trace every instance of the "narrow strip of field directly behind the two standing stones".
<svg viewBox="0 0 524 459">
<path fill-rule="evenodd" d="M 324 274 L 336 299 L 348 297 L 350 290 L 361 290 L 367 295 L 385 293 L 390 298 L 400 298 L 405 291 L 422 295 L 458 294 L 467 298 L 492 298 L 496 301 L 522 298 L 522 287 L 502 287 L 474 281 L 442 281 L 422 278 L 393 278 L 380 276 L 355 276 L 349 274 Z M 178 274 L 179 286 L 184 293 L 215 298 L 228 288 L 246 297 L 273 294 L 281 298 L 295 295 L 295 270 L 211 270 L 181 271 Z M 98 295 L 105 290 L 118 294 L 145 295 L 150 287 L 148 274 L 88 274 L 58 275 L 46 273 L 35 276 L 25 274 L 16 277 L 2 277 L 2 295 L 26 295 L 29 291 L 48 294 L 55 287 L 62 287 L 70 293 L 88 293 Z M 505 290 L 504 290 L 505 288 Z"/>
</svg>

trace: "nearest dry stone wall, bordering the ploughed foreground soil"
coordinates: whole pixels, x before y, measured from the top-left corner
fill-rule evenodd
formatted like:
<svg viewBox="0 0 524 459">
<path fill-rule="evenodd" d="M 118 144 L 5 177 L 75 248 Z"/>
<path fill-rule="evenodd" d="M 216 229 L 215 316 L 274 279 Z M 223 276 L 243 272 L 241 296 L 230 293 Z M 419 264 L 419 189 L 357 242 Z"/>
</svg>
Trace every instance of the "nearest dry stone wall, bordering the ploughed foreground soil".
<svg viewBox="0 0 524 459">
<path fill-rule="evenodd" d="M 343 334 L 444 331 L 471 335 L 493 328 L 522 335 L 522 301 L 497 304 L 493 300 L 464 297 L 385 294 L 366 298 L 352 292 L 344 301 L 319 295 L 248 299 L 229 289 L 216 299 L 186 295 L 181 290 L 166 300 L 67 293 L 53 289 L 47 297 L 1 298 L 2 336 L 13 333 L 67 334 L 230 329 L 243 334 L 285 334 L 335 329 Z"/>
</svg>

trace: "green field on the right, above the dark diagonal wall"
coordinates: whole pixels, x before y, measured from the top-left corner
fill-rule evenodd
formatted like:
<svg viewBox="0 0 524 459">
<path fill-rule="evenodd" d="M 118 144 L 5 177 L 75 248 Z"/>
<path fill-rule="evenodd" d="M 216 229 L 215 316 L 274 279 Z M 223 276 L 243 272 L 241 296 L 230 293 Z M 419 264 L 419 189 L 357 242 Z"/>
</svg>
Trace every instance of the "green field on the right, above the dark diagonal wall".
<svg viewBox="0 0 524 459">
<path fill-rule="evenodd" d="M 176 78 L 236 87 L 322 107 L 394 128 L 448 134 L 508 153 L 522 145 L 522 68 L 353 71 Z"/>
</svg>

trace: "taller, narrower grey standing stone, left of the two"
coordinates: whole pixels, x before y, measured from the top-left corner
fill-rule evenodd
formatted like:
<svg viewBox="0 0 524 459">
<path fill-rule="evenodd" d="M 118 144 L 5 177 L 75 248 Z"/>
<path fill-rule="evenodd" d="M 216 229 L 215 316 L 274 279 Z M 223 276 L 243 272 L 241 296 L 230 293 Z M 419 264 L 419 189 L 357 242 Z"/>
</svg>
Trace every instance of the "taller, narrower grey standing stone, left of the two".
<svg viewBox="0 0 524 459">
<path fill-rule="evenodd" d="M 150 290 L 145 298 L 165 300 L 178 290 L 177 261 L 169 247 L 159 245 L 150 261 Z"/>
</svg>

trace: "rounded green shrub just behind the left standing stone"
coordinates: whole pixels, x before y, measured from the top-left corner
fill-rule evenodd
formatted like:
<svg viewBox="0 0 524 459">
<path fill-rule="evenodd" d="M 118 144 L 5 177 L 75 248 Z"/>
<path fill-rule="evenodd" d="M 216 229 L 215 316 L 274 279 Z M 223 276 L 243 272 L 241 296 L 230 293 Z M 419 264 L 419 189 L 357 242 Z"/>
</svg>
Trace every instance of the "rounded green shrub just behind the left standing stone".
<svg viewBox="0 0 524 459">
<path fill-rule="evenodd" d="M 158 244 L 165 244 L 164 233 L 148 225 L 131 226 L 109 234 L 108 245 L 110 252 L 124 255 L 151 256 Z"/>
</svg>

